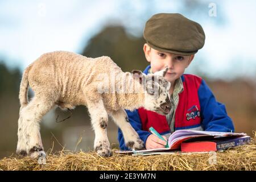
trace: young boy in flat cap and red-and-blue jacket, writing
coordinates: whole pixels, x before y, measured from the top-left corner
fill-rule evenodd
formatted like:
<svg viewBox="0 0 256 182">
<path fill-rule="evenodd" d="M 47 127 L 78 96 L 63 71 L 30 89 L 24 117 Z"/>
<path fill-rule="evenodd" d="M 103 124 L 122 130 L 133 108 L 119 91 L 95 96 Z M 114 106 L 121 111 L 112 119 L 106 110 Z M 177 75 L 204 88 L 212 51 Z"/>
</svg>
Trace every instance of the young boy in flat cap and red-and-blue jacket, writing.
<svg viewBox="0 0 256 182">
<path fill-rule="evenodd" d="M 146 149 L 166 145 L 148 131 L 151 126 L 165 139 L 182 129 L 234 132 L 225 106 L 216 101 L 205 81 L 183 74 L 195 53 L 204 46 L 205 34 L 200 24 L 181 14 L 156 14 L 147 21 L 143 36 L 147 42 L 143 51 L 150 63 L 144 73 L 168 67 L 164 78 L 171 82 L 170 96 L 174 101 L 174 108 L 166 116 L 143 108 L 126 110 Z M 119 129 L 118 141 L 121 150 L 129 150 Z"/>
</svg>

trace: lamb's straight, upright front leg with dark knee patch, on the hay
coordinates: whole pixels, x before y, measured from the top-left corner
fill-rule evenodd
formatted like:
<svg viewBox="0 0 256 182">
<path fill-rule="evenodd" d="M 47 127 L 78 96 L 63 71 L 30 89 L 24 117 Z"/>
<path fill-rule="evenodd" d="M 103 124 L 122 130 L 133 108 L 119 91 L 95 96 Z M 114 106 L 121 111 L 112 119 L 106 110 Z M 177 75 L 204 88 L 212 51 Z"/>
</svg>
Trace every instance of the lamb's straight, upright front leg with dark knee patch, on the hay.
<svg viewBox="0 0 256 182">
<path fill-rule="evenodd" d="M 94 150 L 100 156 L 112 156 L 106 127 L 108 125 L 108 113 L 102 100 L 87 101 L 88 111 L 92 119 L 92 127 L 95 133 Z"/>
</svg>

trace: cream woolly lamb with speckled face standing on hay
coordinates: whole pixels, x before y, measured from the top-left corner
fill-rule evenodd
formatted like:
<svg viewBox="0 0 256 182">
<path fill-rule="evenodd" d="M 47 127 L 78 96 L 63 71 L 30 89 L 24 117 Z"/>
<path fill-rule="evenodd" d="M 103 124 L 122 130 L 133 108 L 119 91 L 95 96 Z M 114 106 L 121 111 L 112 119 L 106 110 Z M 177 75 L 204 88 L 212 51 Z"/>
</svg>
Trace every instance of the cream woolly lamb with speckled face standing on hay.
<svg viewBox="0 0 256 182">
<path fill-rule="evenodd" d="M 141 71 L 122 72 L 108 56 L 90 58 L 67 51 L 43 54 L 23 72 L 16 153 L 45 159 L 39 126 L 43 115 L 54 106 L 65 110 L 77 105 L 88 107 L 98 155 L 112 156 L 106 131 L 108 115 L 121 129 L 126 146 L 141 150 L 143 141 L 131 127 L 124 109 L 144 107 L 168 114 L 172 101 L 168 93 L 170 82 L 164 79 L 166 72 L 167 69 L 148 75 Z M 35 93 L 30 102 L 28 86 Z"/>
</svg>

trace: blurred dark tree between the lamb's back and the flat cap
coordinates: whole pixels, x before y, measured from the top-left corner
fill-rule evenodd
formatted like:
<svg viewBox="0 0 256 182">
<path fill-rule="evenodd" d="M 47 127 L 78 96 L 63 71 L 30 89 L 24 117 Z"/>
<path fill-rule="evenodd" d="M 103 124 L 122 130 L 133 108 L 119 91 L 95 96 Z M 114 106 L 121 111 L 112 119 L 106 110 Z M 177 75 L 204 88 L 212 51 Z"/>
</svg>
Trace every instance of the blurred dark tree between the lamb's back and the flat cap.
<svg viewBox="0 0 256 182">
<path fill-rule="evenodd" d="M 87 57 L 109 56 L 123 71 L 143 69 L 147 63 L 143 44 L 145 40 L 126 33 L 122 26 L 105 27 L 99 34 L 89 40 L 82 55 Z"/>
</svg>

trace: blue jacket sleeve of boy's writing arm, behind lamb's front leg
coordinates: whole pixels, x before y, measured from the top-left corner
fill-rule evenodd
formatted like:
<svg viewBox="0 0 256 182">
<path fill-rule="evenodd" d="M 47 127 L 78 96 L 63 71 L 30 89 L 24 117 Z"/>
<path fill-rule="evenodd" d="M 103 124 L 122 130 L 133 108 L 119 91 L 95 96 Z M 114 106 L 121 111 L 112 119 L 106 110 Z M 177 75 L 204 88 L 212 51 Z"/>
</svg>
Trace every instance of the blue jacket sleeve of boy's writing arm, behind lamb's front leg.
<svg viewBox="0 0 256 182">
<path fill-rule="evenodd" d="M 147 137 L 151 134 L 149 131 L 143 131 L 142 130 L 142 123 L 141 118 L 139 117 L 138 109 L 134 111 L 125 110 L 129 119 L 129 122 L 133 129 L 137 131 L 139 138 L 146 143 Z M 123 138 L 122 131 L 118 128 L 118 142 L 119 142 L 119 148 L 121 150 L 130 150 L 130 148 L 126 147 L 125 140 Z"/>
</svg>

